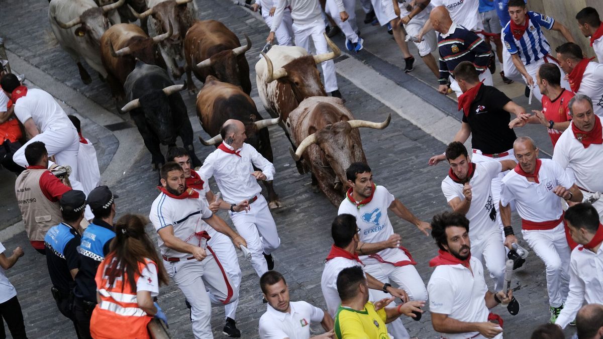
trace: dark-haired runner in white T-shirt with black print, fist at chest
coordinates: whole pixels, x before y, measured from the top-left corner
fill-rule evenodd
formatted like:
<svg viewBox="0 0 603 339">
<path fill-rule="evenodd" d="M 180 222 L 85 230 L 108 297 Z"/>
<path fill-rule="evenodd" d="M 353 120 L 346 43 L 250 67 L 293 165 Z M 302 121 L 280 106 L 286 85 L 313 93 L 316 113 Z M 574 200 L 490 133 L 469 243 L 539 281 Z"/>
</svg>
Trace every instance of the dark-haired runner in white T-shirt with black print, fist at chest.
<svg viewBox="0 0 603 339">
<path fill-rule="evenodd" d="M 471 223 L 473 258 L 486 261 L 494 290 L 502 288 L 505 279 L 505 246 L 499 227 L 494 200 L 492 179 L 499 173 L 513 170 L 513 160 L 473 163 L 467 148 L 458 141 L 446 148 L 450 163 L 448 176 L 442 180 L 442 192 L 453 212 L 463 214 Z"/>
</svg>

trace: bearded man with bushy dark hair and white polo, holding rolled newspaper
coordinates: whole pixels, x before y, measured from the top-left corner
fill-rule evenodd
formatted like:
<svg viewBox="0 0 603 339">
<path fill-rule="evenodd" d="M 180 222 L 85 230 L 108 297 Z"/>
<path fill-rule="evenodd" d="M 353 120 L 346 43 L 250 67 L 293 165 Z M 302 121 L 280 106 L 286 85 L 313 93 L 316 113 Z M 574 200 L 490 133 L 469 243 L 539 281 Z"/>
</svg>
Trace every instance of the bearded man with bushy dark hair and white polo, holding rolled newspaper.
<svg viewBox="0 0 603 339">
<path fill-rule="evenodd" d="M 440 247 L 429 261 L 435 267 L 427 290 L 434 330 L 449 339 L 502 338 L 502 328 L 488 320 L 499 320 L 488 309 L 513 299 L 513 291 L 488 291 L 481 261 L 471 257 L 469 220 L 456 212 L 434 216 L 431 236 Z M 500 323 L 500 320 L 499 320 Z"/>
</svg>

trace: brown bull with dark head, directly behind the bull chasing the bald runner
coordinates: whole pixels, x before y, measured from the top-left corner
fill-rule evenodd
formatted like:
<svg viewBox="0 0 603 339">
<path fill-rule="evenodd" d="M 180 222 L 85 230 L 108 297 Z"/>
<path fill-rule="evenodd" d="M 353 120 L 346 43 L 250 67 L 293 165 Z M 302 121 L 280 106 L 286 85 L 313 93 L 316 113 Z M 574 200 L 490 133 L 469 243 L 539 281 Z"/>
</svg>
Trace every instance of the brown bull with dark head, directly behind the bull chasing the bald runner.
<svg viewBox="0 0 603 339">
<path fill-rule="evenodd" d="M 249 64 L 245 52 L 251 40 L 245 34 L 247 45 L 241 46 L 239 38 L 224 24 L 215 20 L 197 21 L 185 36 L 185 70 L 191 92 L 197 92 L 191 71 L 201 81 L 213 75 L 220 81 L 240 86 L 251 93 Z"/>
</svg>

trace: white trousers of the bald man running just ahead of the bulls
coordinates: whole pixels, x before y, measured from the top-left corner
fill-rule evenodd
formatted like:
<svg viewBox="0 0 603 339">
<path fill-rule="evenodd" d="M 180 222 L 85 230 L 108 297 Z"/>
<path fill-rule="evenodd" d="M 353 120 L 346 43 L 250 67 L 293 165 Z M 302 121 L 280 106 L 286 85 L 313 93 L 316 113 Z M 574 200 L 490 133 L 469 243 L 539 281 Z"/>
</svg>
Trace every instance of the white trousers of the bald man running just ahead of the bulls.
<svg viewBox="0 0 603 339">
<path fill-rule="evenodd" d="M 257 276 L 261 277 L 268 271 L 268 264 L 262 252 L 269 255 L 279 248 L 280 238 L 264 195 L 258 194 L 257 200 L 249 206 L 250 210 L 247 212 L 229 212 L 229 215 L 236 231 L 247 242 L 247 249 L 251 253 L 251 266 L 256 270 Z"/>
</svg>

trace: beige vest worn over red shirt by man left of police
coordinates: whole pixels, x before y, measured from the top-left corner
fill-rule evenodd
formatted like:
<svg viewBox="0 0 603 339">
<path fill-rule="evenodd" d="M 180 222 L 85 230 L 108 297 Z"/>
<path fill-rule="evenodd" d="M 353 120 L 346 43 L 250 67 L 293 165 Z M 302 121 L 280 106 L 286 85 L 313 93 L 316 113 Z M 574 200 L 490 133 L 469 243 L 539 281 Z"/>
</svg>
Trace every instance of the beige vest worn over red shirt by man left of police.
<svg viewBox="0 0 603 339">
<path fill-rule="evenodd" d="M 40 189 L 40 177 L 46 171 L 25 170 L 14 183 L 17 203 L 30 241 L 44 241 L 48 229 L 63 221 L 58 201 L 53 203 L 48 200 Z"/>
</svg>

